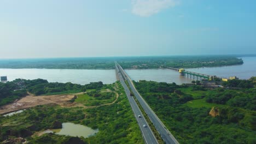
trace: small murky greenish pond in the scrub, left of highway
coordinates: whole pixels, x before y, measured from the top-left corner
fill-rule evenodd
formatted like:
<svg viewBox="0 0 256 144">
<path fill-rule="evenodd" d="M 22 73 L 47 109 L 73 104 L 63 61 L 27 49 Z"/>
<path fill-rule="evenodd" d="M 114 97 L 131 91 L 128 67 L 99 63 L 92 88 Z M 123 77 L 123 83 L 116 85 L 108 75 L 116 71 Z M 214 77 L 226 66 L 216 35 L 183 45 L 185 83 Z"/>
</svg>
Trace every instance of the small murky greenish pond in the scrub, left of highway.
<svg viewBox="0 0 256 144">
<path fill-rule="evenodd" d="M 81 124 L 74 123 L 62 123 L 62 129 L 45 130 L 44 133 L 53 133 L 58 135 L 69 135 L 69 136 L 83 136 L 84 138 L 95 135 L 98 130 L 91 129 Z"/>
</svg>

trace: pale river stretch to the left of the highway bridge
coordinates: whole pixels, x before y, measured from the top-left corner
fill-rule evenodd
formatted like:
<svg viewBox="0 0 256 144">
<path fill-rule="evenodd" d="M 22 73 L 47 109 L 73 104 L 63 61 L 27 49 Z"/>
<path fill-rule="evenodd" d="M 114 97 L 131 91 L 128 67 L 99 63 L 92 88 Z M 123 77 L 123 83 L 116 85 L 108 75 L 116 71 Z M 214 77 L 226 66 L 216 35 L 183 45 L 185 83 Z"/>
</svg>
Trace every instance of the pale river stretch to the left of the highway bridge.
<svg viewBox="0 0 256 144">
<path fill-rule="evenodd" d="M 40 78 L 49 82 L 72 82 L 80 85 L 98 81 L 109 84 L 117 81 L 115 70 L 96 69 L 0 69 L 0 75 L 7 76 L 8 81 Z"/>
</svg>

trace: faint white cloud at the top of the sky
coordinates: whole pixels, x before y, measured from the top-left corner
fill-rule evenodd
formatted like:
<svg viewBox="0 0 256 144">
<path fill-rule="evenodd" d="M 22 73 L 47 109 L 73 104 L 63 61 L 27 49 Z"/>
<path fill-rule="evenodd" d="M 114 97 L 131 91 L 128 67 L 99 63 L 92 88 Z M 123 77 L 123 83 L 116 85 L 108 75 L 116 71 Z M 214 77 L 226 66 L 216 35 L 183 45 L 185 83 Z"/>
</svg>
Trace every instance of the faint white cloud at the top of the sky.
<svg viewBox="0 0 256 144">
<path fill-rule="evenodd" d="M 132 0 L 132 13 L 148 17 L 177 4 L 178 0 Z"/>
</svg>

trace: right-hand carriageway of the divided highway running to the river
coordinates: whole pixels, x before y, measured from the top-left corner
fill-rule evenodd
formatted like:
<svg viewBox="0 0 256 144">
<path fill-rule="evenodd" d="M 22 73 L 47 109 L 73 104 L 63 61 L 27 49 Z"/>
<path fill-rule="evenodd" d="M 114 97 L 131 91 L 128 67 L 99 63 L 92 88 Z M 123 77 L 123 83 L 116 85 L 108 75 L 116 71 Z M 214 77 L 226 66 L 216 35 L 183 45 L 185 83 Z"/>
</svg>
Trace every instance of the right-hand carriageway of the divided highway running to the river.
<svg viewBox="0 0 256 144">
<path fill-rule="evenodd" d="M 130 77 L 126 74 L 123 68 L 116 63 L 121 70 L 121 72 L 124 74 L 125 79 L 129 83 L 129 86 L 131 88 L 131 91 L 135 94 L 135 97 L 139 101 L 139 104 L 141 104 L 143 110 L 147 113 L 150 121 L 154 124 L 156 130 L 158 130 L 159 134 L 161 135 L 162 139 L 166 143 L 170 144 L 177 144 L 178 141 L 175 139 L 175 137 L 171 134 L 171 132 L 165 127 L 165 125 L 161 122 L 161 120 L 158 118 L 158 116 L 155 115 L 155 112 L 149 107 L 149 105 L 146 103 L 146 101 L 141 97 L 141 95 L 137 92 L 135 86 L 132 83 L 132 80 Z"/>
</svg>

